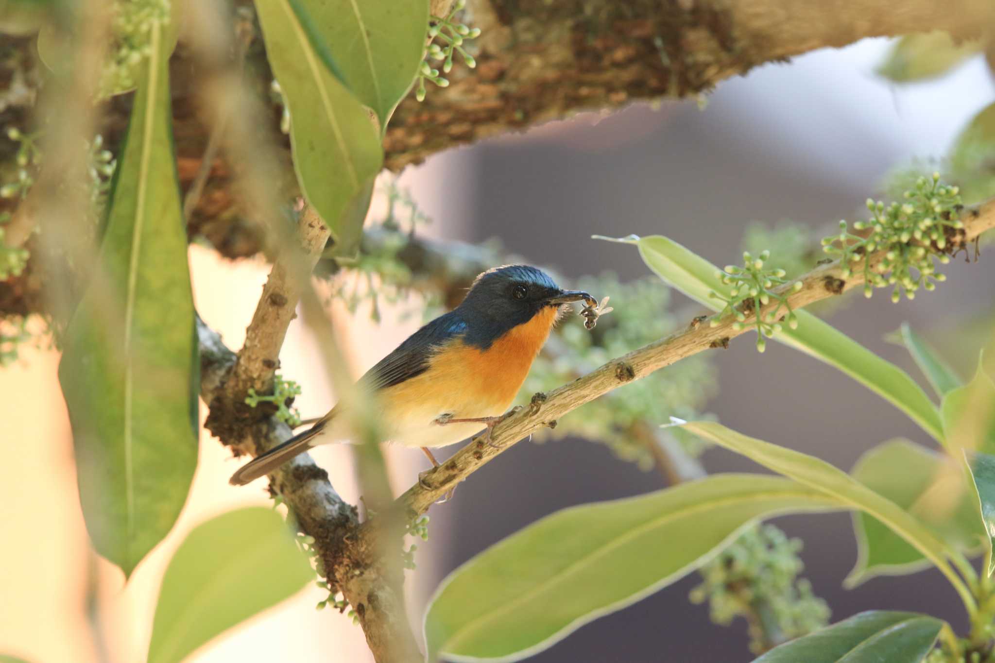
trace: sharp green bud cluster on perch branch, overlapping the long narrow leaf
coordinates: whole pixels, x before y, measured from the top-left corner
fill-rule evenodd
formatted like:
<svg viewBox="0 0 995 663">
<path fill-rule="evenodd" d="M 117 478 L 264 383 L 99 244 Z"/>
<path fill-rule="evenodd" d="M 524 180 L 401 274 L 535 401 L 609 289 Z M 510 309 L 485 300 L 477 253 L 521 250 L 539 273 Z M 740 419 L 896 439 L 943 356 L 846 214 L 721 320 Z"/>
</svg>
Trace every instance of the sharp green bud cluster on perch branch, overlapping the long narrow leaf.
<svg viewBox="0 0 995 663">
<path fill-rule="evenodd" d="M 763 352 L 767 349 L 767 341 L 764 336 L 772 336 L 781 331 L 781 309 L 786 313 L 783 316 L 788 326 L 794 329 L 798 326 L 798 318 L 791 310 L 788 297 L 785 294 L 778 294 L 775 289 L 779 285 L 787 283 L 787 271 L 781 268 L 765 269 L 764 263 L 770 258 L 770 251 L 764 250 L 759 257 L 754 258 L 749 251 L 743 252 L 743 266 L 737 267 L 734 264 L 726 265 L 724 270 L 716 271 L 715 278 L 718 278 L 725 285 L 731 285 L 728 296 L 723 296 L 712 290 L 708 296 L 725 302 L 724 308 L 711 319 L 711 326 L 718 325 L 722 318 L 732 315 L 736 321 L 732 328 L 742 329 L 746 322 L 746 315 L 753 311 L 760 311 L 773 299 L 777 302 L 774 310 L 765 315 L 754 315 L 753 325 L 756 326 L 756 349 Z M 802 288 L 801 281 L 795 281 L 789 288 L 789 292 L 797 292 Z"/>
</svg>

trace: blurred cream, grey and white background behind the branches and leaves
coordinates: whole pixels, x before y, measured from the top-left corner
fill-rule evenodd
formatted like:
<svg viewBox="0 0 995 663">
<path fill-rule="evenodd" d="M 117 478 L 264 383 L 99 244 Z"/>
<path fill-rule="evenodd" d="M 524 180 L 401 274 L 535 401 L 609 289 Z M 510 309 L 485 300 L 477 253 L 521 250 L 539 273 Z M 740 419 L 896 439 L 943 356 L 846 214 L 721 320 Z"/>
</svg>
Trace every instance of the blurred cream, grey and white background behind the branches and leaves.
<svg viewBox="0 0 995 663">
<path fill-rule="evenodd" d="M 764 66 L 722 83 L 704 109 L 694 101 L 638 104 L 446 152 L 409 168 L 401 185 L 434 219 L 423 230 L 427 235 L 470 243 L 497 236 L 506 249 L 568 277 L 604 269 L 622 280 L 648 273 L 634 249 L 594 242 L 592 234 L 663 234 L 716 264 L 737 262 L 750 222 L 776 227 L 790 221 L 813 232 L 825 228 L 829 235 L 839 219 L 863 219 L 864 200 L 880 191 L 890 170 L 945 154 L 970 118 L 995 99 L 981 56 L 941 79 L 896 86 L 874 74 L 887 48 L 884 40 L 865 41 Z M 190 249 L 190 262 L 200 314 L 230 346 L 239 346 L 268 266 L 255 259 L 224 260 L 197 246 Z M 969 375 L 981 340 L 962 330 L 992 310 L 995 262 L 965 264 L 959 258 L 944 271 L 947 282 L 914 304 L 884 305 L 887 293 L 870 302 L 856 297 L 831 320 L 918 378 L 907 354 L 884 341 L 908 321 L 927 333 L 961 375 Z M 212 287 L 197 287 L 205 282 Z M 675 306 L 687 304 L 674 297 Z M 355 314 L 348 327 L 356 375 L 417 327 L 417 319 L 401 315 L 411 306 L 387 310 L 379 326 L 368 311 Z M 312 360 L 316 353 L 314 340 L 292 325 L 281 361 L 283 374 L 303 389 L 297 405 L 304 416 L 323 414 L 334 402 Z M 25 349 L 17 365 L 0 372 L 2 393 L 33 395 L 30 402 L 0 400 L 0 420 L 12 440 L 0 464 L 0 485 L 8 495 L 0 509 L 0 651 L 39 662 L 140 660 L 170 551 L 208 517 L 269 500 L 261 485 L 227 484 L 236 463 L 203 433 L 197 478 L 177 527 L 124 586 L 120 572 L 88 547 L 58 361 L 55 352 Z M 750 342 L 737 340 L 728 351 L 716 351 L 714 361 L 718 396 L 705 411 L 746 434 L 843 469 L 892 437 L 930 445 L 877 396 L 777 344 L 759 355 Z M 659 421 L 670 414 L 661 411 Z M 584 410 L 570 416 L 582 417 Z M 348 449 L 323 447 L 313 456 L 343 497 L 355 501 Z M 388 460 L 397 492 L 426 464 L 409 449 L 389 449 Z M 709 472 L 756 469 L 720 450 L 706 451 L 703 463 Z M 663 486 L 658 474 L 618 460 L 602 444 L 571 438 L 518 444 L 461 485 L 453 502 L 432 509 L 431 538 L 420 545 L 418 569 L 408 578 L 416 631 L 439 580 L 502 537 L 562 507 Z M 841 582 L 856 560 L 849 515 L 777 523 L 805 541 L 805 575 L 828 600 L 834 621 L 872 607 L 898 608 L 929 611 L 963 629 L 956 595 L 933 571 L 911 581 L 881 578 L 844 590 Z M 741 621 L 716 626 L 706 605 L 689 602 L 698 581 L 692 575 L 598 619 L 530 660 L 751 660 Z M 191 660 L 372 660 L 358 627 L 312 609 L 324 597 L 316 587 L 306 588 Z"/>
</svg>

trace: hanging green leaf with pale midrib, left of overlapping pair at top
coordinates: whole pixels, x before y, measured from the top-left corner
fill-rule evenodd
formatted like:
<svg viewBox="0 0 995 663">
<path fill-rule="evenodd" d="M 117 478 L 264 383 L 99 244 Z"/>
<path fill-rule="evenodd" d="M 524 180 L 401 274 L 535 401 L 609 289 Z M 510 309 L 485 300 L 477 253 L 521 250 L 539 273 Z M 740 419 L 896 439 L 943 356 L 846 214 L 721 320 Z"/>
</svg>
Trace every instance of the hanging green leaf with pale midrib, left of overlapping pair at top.
<svg viewBox="0 0 995 663">
<path fill-rule="evenodd" d="M 331 230 L 336 254 L 351 254 L 366 211 L 360 205 L 358 214 L 354 200 L 366 196 L 383 165 L 380 136 L 366 109 L 314 50 L 292 0 L 257 2 L 256 11 L 291 112 L 300 189 Z"/>
</svg>

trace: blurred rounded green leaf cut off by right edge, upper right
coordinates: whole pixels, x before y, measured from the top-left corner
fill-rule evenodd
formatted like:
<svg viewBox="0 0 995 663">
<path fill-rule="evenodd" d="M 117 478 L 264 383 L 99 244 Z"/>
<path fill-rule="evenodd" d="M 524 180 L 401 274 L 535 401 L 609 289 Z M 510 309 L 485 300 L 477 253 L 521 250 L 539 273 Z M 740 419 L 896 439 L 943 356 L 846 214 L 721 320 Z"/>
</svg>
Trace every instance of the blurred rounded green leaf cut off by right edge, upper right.
<svg viewBox="0 0 995 663">
<path fill-rule="evenodd" d="M 960 132 L 948 154 L 950 179 L 972 205 L 995 196 L 995 103 L 985 106 Z"/>
</svg>

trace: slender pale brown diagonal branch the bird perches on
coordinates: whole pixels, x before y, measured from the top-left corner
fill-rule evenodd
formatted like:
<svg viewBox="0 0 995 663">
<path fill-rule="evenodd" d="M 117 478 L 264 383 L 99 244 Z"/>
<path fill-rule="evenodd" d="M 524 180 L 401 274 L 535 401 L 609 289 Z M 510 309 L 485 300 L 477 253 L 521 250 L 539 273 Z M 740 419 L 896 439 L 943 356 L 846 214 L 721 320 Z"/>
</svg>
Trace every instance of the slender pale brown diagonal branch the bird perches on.
<svg viewBox="0 0 995 663">
<path fill-rule="evenodd" d="M 950 252 L 966 249 L 967 243 L 985 231 L 995 228 L 995 200 L 979 208 L 965 210 L 962 219 L 965 234 L 948 243 L 947 250 Z M 884 251 L 873 253 L 870 257 L 872 265 L 879 263 L 884 257 Z M 803 284 L 801 290 L 789 293 L 789 284 L 782 287 L 779 292 L 787 295 L 793 309 L 802 308 L 863 285 L 864 275 L 862 272 L 857 272 L 844 279 L 839 261 L 834 261 L 813 269 L 797 280 Z M 772 301 L 761 309 L 760 314 L 772 311 L 776 305 L 777 303 Z M 492 444 L 485 443 L 482 435 L 478 435 L 449 460 L 423 475 L 422 481 L 409 488 L 399 498 L 400 506 L 415 515 L 425 513 L 447 491 L 455 488 L 457 484 L 516 442 L 546 426 L 548 421 L 559 419 L 564 414 L 622 385 L 645 378 L 654 371 L 698 352 L 727 347 L 730 339 L 753 331 L 754 328 L 750 327 L 753 319 L 753 315 L 747 315 L 743 326 L 736 330 L 732 326 L 735 322 L 732 316 L 719 321 L 715 327 L 701 324 L 696 318 L 696 322 L 687 329 L 613 359 L 601 368 L 549 392 L 543 399 L 533 398 L 530 408 L 509 415 L 495 426 Z"/>
</svg>

